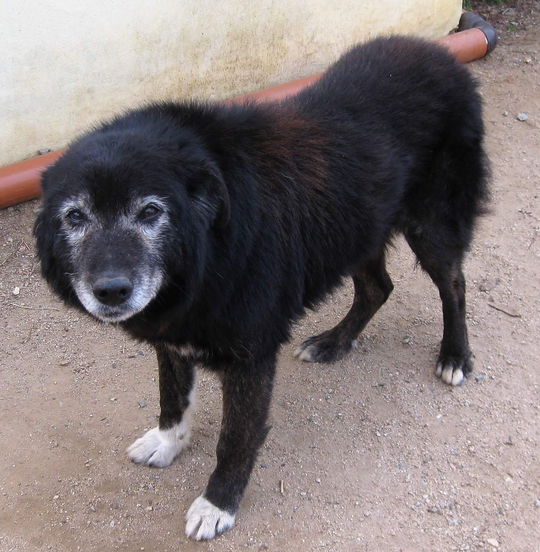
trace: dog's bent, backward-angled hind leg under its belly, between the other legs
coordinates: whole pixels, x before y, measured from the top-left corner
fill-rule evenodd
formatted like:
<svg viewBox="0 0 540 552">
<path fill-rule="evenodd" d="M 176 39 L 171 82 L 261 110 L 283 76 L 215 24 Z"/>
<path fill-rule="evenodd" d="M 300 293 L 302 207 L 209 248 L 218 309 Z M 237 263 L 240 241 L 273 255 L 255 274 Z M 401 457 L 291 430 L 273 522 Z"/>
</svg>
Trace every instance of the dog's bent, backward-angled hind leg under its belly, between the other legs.
<svg viewBox="0 0 540 552">
<path fill-rule="evenodd" d="M 351 351 L 359 333 L 366 327 L 394 289 L 384 261 L 384 253 L 362 266 L 352 277 L 354 300 L 347 316 L 331 330 L 306 339 L 294 355 L 307 362 L 334 362 Z"/>
</svg>

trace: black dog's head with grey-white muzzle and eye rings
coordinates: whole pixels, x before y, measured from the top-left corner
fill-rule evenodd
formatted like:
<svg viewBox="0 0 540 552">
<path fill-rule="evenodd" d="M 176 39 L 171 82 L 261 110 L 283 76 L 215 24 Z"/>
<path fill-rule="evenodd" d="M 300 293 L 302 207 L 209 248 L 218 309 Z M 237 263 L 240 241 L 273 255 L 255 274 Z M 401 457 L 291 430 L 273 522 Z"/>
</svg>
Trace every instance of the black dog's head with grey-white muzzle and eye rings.
<svg viewBox="0 0 540 552">
<path fill-rule="evenodd" d="M 223 178 L 205 148 L 148 114 L 83 136 L 41 185 L 41 272 L 64 300 L 105 322 L 130 319 L 167 286 L 192 300 L 208 233 L 229 219 Z"/>
</svg>

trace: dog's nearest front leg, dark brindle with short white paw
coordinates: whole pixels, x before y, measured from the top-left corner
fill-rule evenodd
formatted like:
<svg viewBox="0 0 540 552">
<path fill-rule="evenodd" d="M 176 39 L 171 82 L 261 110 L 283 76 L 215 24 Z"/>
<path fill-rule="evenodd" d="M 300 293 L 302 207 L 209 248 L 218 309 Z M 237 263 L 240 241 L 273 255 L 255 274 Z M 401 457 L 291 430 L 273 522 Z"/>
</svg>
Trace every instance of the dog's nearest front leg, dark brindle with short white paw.
<svg viewBox="0 0 540 552">
<path fill-rule="evenodd" d="M 218 464 L 207 489 L 186 514 L 188 537 L 212 539 L 232 527 L 257 450 L 268 433 L 266 421 L 275 367 L 272 356 L 263 362 L 225 369 Z"/>
</svg>

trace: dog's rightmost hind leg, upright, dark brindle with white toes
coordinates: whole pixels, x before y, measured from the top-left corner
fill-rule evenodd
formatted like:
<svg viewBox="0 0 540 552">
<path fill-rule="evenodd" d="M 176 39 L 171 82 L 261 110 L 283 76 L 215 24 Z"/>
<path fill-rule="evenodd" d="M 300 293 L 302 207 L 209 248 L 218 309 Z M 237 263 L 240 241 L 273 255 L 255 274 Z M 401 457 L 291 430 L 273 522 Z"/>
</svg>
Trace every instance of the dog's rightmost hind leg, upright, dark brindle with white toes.
<svg viewBox="0 0 540 552">
<path fill-rule="evenodd" d="M 445 383 L 459 385 L 473 369 L 465 322 L 465 247 L 458 232 L 443 224 L 419 233 L 406 231 L 405 238 L 441 296 L 444 328 L 436 373 Z"/>
</svg>

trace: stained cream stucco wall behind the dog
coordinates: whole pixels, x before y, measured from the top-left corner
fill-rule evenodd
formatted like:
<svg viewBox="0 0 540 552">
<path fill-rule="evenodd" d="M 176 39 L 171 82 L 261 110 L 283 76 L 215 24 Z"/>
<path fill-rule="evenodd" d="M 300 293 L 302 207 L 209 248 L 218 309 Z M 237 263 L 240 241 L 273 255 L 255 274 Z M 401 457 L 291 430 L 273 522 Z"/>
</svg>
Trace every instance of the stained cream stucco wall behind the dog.
<svg viewBox="0 0 540 552">
<path fill-rule="evenodd" d="M 437 37 L 462 0 L 0 0 L 0 165 L 157 98 L 224 98 L 322 70 L 390 31 Z"/>
</svg>

